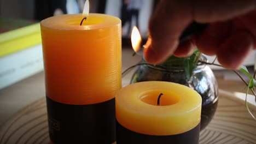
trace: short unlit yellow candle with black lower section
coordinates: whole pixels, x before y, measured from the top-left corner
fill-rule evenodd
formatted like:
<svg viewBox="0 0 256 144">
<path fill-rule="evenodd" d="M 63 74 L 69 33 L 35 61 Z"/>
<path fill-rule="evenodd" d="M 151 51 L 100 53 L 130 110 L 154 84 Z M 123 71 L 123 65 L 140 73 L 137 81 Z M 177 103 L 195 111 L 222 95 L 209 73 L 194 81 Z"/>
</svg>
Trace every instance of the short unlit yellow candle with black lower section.
<svg viewBox="0 0 256 144">
<path fill-rule="evenodd" d="M 160 93 L 163 95 L 160 105 L 157 105 Z M 151 139 L 150 136 L 181 135 L 195 127 L 195 141 L 198 142 L 201 101 L 201 96 L 196 91 L 177 83 L 147 81 L 126 86 L 115 97 L 117 123 L 126 130 L 148 135 L 148 141 L 142 140 L 143 136 L 138 136 L 139 140 L 135 140 L 136 134 L 129 137 L 126 133 L 126 136 L 122 136 L 122 132 L 119 133 L 122 130 L 117 129 L 117 143 L 154 143 L 154 138 Z M 161 140 L 158 139 L 157 142 L 161 143 Z M 168 142 L 172 141 L 166 143 Z M 189 142 L 191 143 L 190 140 Z"/>
</svg>

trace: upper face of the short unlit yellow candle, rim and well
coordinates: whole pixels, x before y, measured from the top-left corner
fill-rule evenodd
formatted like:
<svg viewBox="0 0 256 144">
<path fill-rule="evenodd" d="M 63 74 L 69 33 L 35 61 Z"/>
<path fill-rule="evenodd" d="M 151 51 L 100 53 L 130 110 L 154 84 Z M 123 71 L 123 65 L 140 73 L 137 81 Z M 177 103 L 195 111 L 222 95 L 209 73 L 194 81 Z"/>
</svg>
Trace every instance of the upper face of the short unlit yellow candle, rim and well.
<svg viewBox="0 0 256 144">
<path fill-rule="evenodd" d="M 167 104 L 156 105 L 160 93 L 163 94 L 160 103 Z M 145 100 L 145 97 L 154 98 L 155 103 Z M 119 90 L 116 99 L 126 107 L 125 109 L 133 112 L 137 112 L 139 109 L 145 115 L 155 116 L 181 115 L 181 113 L 193 111 L 201 106 L 201 96 L 194 89 L 162 81 L 133 83 Z M 136 103 L 130 103 L 131 101 L 136 101 Z"/>
</svg>

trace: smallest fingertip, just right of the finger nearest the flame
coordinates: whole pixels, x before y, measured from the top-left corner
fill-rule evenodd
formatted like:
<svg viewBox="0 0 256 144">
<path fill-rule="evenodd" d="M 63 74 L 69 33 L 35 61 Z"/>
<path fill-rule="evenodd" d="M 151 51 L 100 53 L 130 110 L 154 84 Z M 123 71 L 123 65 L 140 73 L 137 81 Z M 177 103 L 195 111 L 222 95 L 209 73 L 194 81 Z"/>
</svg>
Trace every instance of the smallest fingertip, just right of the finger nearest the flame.
<svg viewBox="0 0 256 144">
<path fill-rule="evenodd" d="M 194 52 L 195 49 L 196 47 L 191 40 L 184 41 L 183 43 L 179 44 L 178 49 L 173 52 L 173 55 L 176 57 L 188 57 Z"/>
</svg>

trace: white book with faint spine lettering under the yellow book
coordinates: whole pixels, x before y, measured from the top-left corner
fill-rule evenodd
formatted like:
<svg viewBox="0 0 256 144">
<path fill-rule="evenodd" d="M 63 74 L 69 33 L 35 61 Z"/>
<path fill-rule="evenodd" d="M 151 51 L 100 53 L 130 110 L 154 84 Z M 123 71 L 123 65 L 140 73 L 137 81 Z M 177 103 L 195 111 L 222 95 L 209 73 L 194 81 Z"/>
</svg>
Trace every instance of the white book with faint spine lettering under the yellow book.
<svg viewBox="0 0 256 144">
<path fill-rule="evenodd" d="M 0 57 L 0 89 L 43 69 L 42 44 Z"/>
</svg>

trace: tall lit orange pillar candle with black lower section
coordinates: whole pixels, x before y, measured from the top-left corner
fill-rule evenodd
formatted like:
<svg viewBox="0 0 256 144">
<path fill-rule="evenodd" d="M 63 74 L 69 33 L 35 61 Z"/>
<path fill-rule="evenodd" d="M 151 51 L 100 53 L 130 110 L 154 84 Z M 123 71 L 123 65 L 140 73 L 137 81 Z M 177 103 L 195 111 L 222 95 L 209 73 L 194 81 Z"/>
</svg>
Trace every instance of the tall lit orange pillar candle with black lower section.
<svg viewBox="0 0 256 144">
<path fill-rule="evenodd" d="M 55 143 L 115 141 L 115 92 L 121 88 L 121 21 L 104 14 L 40 22 L 49 134 Z"/>
</svg>

